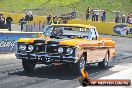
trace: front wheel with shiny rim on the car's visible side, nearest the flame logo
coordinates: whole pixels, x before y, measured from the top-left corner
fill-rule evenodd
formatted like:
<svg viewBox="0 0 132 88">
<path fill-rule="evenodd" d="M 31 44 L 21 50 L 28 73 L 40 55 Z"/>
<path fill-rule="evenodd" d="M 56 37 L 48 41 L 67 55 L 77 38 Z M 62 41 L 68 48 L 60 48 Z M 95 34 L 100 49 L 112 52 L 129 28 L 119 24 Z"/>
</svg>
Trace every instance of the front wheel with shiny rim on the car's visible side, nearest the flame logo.
<svg viewBox="0 0 132 88">
<path fill-rule="evenodd" d="M 85 57 L 83 55 L 80 57 L 80 60 L 77 63 L 72 64 L 72 68 L 73 68 L 73 71 L 75 72 L 75 74 L 81 75 L 81 70 L 85 69 L 85 64 L 86 64 L 86 61 L 85 61 Z"/>
</svg>

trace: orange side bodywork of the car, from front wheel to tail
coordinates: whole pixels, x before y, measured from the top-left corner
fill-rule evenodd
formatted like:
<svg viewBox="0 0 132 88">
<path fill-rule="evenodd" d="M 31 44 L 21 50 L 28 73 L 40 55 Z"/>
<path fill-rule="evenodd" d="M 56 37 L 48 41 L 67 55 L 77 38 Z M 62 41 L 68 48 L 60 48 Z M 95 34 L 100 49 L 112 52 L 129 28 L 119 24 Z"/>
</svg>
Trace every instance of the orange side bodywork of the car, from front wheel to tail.
<svg viewBox="0 0 132 88">
<path fill-rule="evenodd" d="M 98 40 L 90 40 L 89 42 L 79 44 L 77 57 L 80 58 L 85 52 L 87 63 L 101 62 L 106 54 L 109 54 L 109 59 L 115 56 L 115 42 L 110 38 L 101 38 Z"/>
</svg>

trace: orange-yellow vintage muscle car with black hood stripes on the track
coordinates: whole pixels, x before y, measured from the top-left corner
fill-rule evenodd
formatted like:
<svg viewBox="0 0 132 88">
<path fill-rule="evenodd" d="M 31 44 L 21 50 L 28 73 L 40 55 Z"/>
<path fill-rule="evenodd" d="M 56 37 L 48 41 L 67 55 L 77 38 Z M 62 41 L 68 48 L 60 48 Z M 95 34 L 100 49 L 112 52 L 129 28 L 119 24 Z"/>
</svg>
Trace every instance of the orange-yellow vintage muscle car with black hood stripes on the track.
<svg viewBox="0 0 132 88">
<path fill-rule="evenodd" d="M 96 27 L 83 24 L 53 24 L 39 38 L 20 38 L 16 57 L 22 59 L 25 71 L 36 64 L 70 64 L 80 73 L 87 64 L 107 67 L 115 56 L 115 42 L 101 38 Z M 69 66 L 69 65 L 67 65 Z"/>
</svg>

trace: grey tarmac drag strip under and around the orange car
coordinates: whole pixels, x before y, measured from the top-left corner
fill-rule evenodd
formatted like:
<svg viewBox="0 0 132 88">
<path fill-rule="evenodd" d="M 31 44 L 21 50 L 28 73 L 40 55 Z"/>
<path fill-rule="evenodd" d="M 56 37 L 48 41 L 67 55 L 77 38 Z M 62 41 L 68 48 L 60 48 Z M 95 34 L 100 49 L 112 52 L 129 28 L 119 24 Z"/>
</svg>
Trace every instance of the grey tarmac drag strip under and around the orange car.
<svg viewBox="0 0 132 88">
<path fill-rule="evenodd" d="M 132 38 L 101 36 L 116 42 L 117 55 L 109 68 L 87 67 L 89 77 L 99 79 L 132 68 Z M 80 86 L 77 78 L 72 70 L 63 66 L 37 65 L 33 72 L 26 73 L 14 53 L 0 54 L 0 88 L 76 88 Z"/>
</svg>

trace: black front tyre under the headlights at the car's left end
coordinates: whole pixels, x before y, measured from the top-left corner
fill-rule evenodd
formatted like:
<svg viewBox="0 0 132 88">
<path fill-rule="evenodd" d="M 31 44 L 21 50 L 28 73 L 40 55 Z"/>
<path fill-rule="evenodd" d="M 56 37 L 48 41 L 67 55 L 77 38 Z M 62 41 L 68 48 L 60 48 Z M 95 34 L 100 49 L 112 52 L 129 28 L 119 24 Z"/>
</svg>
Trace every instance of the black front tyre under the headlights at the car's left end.
<svg viewBox="0 0 132 88">
<path fill-rule="evenodd" d="M 30 62 L 29 60 L 22 60 L 23 69 L 26 72 L 33 71 L 35 68 L 35 63 Z"/>
</svg>

